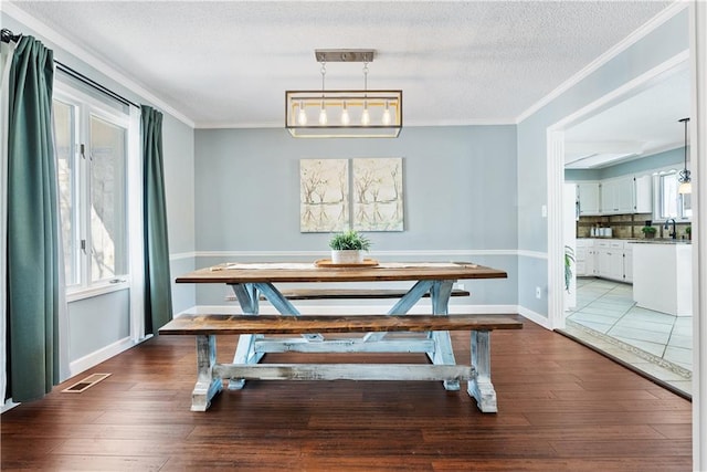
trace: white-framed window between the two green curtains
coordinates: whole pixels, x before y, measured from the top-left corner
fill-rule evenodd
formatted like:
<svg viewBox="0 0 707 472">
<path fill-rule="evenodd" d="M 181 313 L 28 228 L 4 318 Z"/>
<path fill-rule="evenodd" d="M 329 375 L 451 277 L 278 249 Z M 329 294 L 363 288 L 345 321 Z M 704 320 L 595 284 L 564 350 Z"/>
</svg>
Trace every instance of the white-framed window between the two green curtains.
<svg viewBox="0 0 707 472">
<path fill-rule="evenodd" d="M 70 87 L 54 94 L 64 273 L 74 293 L 128 275 L 129 115 L 116 106 Z"/>
</svg>

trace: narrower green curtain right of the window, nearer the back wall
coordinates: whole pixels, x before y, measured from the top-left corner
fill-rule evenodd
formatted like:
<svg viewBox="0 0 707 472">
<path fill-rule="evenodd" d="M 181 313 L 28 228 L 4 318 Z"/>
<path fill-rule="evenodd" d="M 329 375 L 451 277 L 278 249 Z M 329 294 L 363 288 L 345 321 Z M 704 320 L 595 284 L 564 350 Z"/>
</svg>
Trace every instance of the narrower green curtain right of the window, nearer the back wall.
<svg viewBox="0 0 707 472">
<path fill-rule="evenodd" d="M 162 166 L 162 114 L 141 106 L 145 191 L 145 333 L 172 318 L 169 244 Z"/>
</svg>

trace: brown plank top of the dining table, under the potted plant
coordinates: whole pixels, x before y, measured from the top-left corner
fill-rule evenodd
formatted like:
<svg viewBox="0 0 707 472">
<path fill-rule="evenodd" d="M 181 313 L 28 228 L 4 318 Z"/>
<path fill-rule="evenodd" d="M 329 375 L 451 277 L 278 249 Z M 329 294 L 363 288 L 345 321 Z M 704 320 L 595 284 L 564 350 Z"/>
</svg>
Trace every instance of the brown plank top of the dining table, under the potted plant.
<svg viewBox="0 0 707 472">
<path fill-rule="evenodd" d="M 177 277 L 177 283 L 376 282 L 506 279 L 505 271 L 471 262 L 381 262 L 377 266 L 321 268 L 314 263 L 224 263 Z"/>
</svg>

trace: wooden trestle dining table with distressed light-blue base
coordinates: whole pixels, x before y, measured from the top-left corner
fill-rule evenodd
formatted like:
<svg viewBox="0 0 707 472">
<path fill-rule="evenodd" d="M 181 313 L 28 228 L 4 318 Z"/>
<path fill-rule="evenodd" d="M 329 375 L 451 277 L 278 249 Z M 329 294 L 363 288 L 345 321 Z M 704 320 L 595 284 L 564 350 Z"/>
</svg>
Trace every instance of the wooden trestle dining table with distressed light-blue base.
<svg viewBox="0 0 707 472">
<path fill-rule="evenodd" d="M 300 315 L 281 286 L 286 284 L 412 282 L 412 286 L 387 312 L 405 315 L 423 296 L 431 298 L 431 314 L 449 314 L 454 283 L 460 280 L 505 279 L 507 273 L 471 262 L 381 262 L 376 264 L 333 266 L 319 263 L 223 263 L 200 269 L 177 277 L 177 283 L 229 285 L 244 314 L 256 315 L 261 298 L 265 298 L 282 315 Z M 372 284 L 371 284 L 372 283 Z M 336 310 L 336 308 L 334 308 Z M 336 314 L 336 313 L 331 313 Z M 450 333 L 434 331 L 426 337 L 367 333 L 362 337 L 327 339 L 321 334 L 302 334 L 297 338 L 265 338 L 263 335 L 241 335 L 233 363 L 257 364 L 266 353 L 425 353 L 432 364 L 455 365 Z M 240 389 L 245 380 L 230 379 L 229 389 Z M 445 380 L 447 390 L 458 390 L 460 382 Z"/>
</svg>

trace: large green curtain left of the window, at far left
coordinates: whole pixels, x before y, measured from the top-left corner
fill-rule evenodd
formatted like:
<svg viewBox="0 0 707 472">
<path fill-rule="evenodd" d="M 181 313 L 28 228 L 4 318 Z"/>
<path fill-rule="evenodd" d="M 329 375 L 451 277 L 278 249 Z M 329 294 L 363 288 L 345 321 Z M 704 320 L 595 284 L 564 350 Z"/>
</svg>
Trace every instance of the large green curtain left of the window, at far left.
<svg viewBox="0 0 707 472">
<path fill-rule="evenodd" d="M 8 395 L 42 398 L 59 381 L 59 196 L 52 143 L 54 60 L 23 36 L 8 113 Z"/>
</svg>

